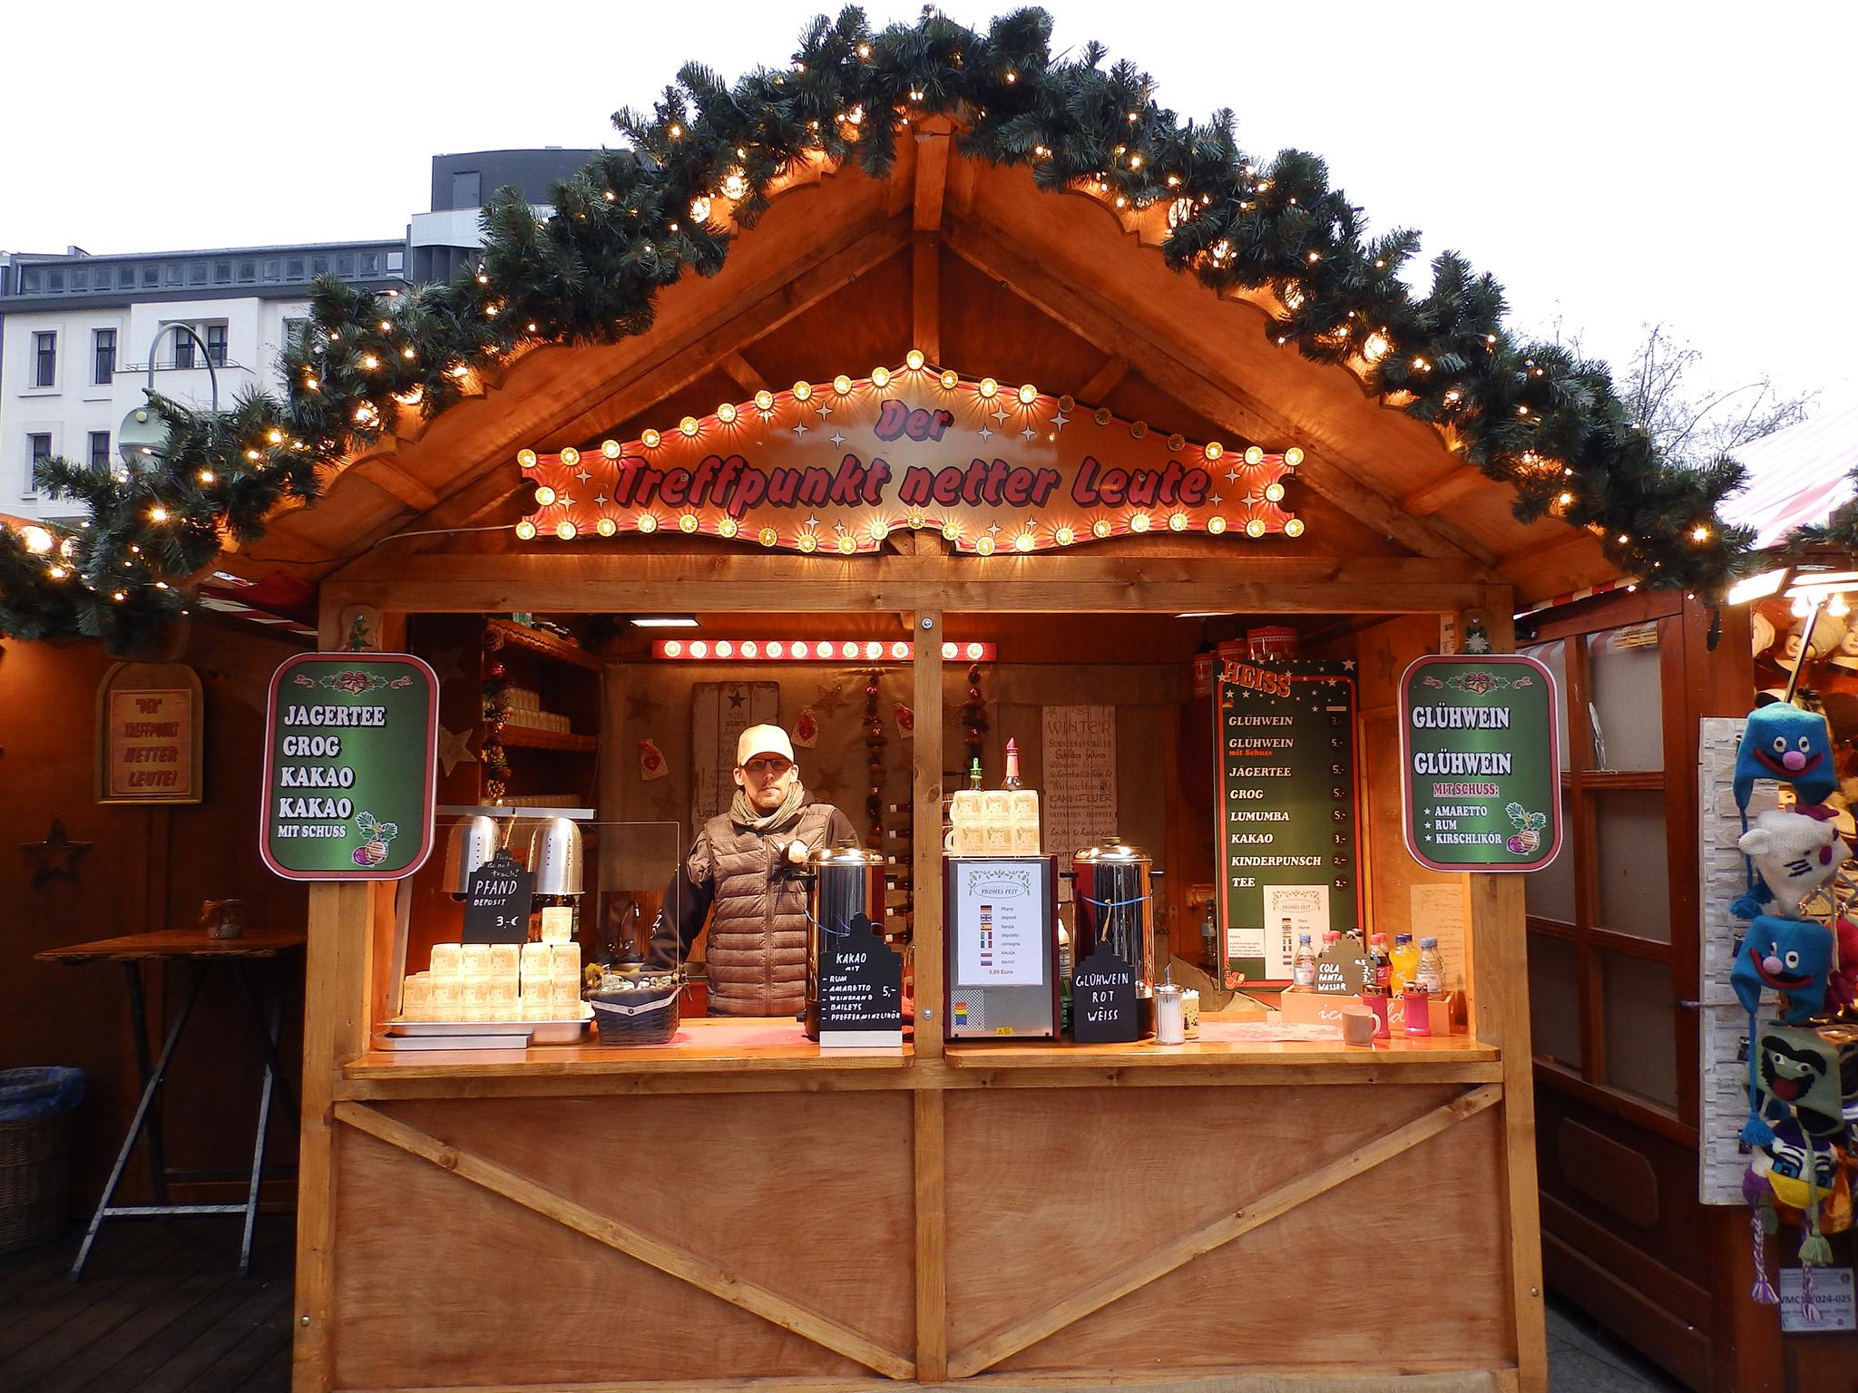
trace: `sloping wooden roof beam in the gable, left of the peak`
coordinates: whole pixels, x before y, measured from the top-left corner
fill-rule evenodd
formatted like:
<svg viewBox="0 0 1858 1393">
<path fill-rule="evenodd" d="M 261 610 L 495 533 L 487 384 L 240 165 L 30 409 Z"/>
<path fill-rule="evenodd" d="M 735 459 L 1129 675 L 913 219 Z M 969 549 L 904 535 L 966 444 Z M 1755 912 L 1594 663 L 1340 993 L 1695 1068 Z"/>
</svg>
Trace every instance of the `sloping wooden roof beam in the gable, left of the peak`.
<svg viewBox="0 0 1858 1393">
<path fill-rule="evenodd" d="M 485 431 L 478 459 L 451 475 L 451 490 L 444 501 L 420 520 L 422 527 L 459 527 L 487 505 L 485 490 L 472 490 L 487 475 L 507 474 L 509 488 L 492 487 L 492 498 L 502 498 L 520 481 L 515 477 L 515 457 L 522 446 L 548 448 L 552 442 L 572 444 L 611 429 L 617 422 L 650 409 L 682 386 L 715 370 L 725 353 L 743 347 L 773 332 L 799 314 L 842 290 L 871 267 L 890 260 L 909 245 L 909 225 L 899 217 L 868 217 L 797 264 L 782 266 L 756 286 L 749 286 L 730 303 L 699 321 L 684 334 L 652 344 L 652 351 L 613 377 L 580 392 L 574 399 L 548 412 L 544 420 L 496 422 Z M 453 507 L 453 500 L 472 490 L 468 501 Z M 359 546 L 372 544 L 403 520 L 375 527 Z"/>
</svg>

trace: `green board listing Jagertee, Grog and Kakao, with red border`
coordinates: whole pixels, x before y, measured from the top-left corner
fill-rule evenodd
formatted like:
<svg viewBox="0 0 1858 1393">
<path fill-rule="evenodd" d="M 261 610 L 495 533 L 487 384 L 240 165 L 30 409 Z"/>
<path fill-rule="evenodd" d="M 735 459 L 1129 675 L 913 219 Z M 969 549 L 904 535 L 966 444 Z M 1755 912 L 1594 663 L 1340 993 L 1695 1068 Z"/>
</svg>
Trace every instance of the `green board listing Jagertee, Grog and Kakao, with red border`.
<svg viewBox="0 0 1858 1393">
<path fill-rule="evenodd" d="M 433 849 L 438 678 L 411 654 L 271 674 L 258 851 L 286 880 L 399 880 Z"/>
</svg>

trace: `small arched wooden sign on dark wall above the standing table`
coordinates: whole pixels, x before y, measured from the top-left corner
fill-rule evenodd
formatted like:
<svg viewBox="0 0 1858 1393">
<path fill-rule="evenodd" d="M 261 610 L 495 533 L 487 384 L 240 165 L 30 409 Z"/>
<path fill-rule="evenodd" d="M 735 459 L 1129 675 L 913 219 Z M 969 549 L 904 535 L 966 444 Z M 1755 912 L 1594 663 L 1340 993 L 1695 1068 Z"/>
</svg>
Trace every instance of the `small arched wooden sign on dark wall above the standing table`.
<svg viewBox="0 0 1858 1393">
<path fill-rule="evenodd" d="M 117 663 L 97 689 L 97 801 L 199 802 L 201 678 L 186 663 Z"/>
</svg>

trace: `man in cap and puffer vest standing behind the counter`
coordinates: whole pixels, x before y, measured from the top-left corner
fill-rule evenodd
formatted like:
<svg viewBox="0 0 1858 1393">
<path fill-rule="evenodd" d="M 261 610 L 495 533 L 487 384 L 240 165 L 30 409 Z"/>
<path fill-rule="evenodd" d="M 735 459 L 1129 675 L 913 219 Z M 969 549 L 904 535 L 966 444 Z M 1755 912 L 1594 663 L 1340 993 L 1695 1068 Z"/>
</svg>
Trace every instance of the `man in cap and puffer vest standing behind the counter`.
<svg viewBox="0 0 1858 1393">
<path fill-rule="evenodd" d="M 710 918 L 712 1016 L 797 1016 L 806 1009 L 806 854 L 858 834 L 831 802 L 812 802 L 780 726 L 736 741 L 736 799 L 704 823 L 665 888 L 652 962 L 671 966 Z"/>
</svg>

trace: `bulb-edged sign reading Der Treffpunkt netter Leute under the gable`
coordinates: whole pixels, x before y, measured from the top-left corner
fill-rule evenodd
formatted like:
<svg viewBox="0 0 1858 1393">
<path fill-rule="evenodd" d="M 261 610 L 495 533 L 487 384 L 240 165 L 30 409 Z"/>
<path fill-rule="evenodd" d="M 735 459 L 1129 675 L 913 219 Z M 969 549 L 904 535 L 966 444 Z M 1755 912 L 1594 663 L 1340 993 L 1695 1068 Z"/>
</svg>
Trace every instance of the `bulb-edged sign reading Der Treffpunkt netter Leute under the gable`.
<svg viewBox="0 0 1858 1393">
<path fill-rule="evenodd" d="M 522 449 L 535 492 L 517 535 L 682 533 L 827 555 L 923 527 L 975 555 L 1141 533 L 1301 537 L 1284 507 L 1301 461 L 938 371 L 912 349 L 897 370 L 762 390 L 637 440 Z"/>
</svg>

